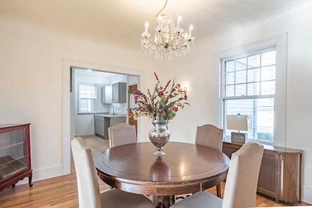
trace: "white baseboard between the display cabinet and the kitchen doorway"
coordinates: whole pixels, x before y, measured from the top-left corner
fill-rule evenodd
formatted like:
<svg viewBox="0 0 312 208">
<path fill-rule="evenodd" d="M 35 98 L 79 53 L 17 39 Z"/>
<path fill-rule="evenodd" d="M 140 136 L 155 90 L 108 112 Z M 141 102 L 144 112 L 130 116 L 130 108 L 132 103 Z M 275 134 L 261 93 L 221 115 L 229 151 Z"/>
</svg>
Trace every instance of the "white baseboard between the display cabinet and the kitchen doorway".
<svg viewBox="0 0 312 208">
<path fill-rule="evenodd" d="M 46 169 L 33 170 L 32 182 L 41 181 L 49 178 L 54 178 L 63 175 L 63 167 L 62 166 L 54 166 Z M 28 177 L 19 181 L 16 186 L 28 184 Z"/>
</svg>

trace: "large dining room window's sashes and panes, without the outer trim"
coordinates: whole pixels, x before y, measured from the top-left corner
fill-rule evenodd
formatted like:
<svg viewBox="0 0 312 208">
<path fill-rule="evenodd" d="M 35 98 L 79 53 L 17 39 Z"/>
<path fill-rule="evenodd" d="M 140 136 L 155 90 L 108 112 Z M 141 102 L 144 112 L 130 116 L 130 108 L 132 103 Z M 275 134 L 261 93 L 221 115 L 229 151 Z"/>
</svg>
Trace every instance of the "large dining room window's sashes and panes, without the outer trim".
<svg viewBox="0 0 312 208">
<path fill-rule="evenodd" d="M 222 59 L 226 136 L 233 132 L 227 129 L 226 116 L 240 113 L 252 117 L 248 139 L 273 142 L 275 59 L 275 46 Z"/>
</svg>

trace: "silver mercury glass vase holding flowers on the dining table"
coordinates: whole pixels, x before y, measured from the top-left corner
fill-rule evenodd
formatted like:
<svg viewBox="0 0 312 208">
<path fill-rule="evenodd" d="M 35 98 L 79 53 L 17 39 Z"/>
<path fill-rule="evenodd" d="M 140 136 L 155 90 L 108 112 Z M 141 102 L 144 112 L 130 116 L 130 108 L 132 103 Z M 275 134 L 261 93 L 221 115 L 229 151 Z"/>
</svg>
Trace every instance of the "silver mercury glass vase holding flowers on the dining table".
<svg viewBox="0 0 312 208">
<path fill-rule="evenodd" d="M 148 133 L 152 144 L 156 147 L 157 151 L 154 153 L 154 155 L 156 156 L 162 156 L 166 154 L 165 152 L 162 152 L 163 147 L 165 146 L 165 144 L 167 144 L 170 137 L 170 132 L 165 126 L 166 122 L 166 120 L 152 120 L 154 128 L 152 128 Z"/>
</svg>

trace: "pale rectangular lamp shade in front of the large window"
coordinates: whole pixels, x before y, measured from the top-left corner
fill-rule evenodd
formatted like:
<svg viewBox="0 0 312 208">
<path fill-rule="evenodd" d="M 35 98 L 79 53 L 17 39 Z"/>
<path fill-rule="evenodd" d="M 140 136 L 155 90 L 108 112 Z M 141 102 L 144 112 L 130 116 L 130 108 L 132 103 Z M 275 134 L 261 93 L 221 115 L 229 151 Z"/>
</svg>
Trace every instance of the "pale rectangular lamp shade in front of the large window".
<svg viewBox="0 0 312 208">
<path fill-rule="evenodd" d="M 249 131 L 252 128 L 251 115 L 227 115 L 226 116 L 227 129 L 238 131 Z"/>
</svg>

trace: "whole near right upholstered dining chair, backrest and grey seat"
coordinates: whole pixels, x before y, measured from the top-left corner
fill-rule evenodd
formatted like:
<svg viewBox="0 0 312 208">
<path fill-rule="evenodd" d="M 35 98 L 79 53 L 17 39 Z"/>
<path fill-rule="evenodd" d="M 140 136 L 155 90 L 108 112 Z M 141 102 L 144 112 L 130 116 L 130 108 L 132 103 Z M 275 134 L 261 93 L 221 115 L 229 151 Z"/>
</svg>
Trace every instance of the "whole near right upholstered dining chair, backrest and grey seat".
<svg viewBox="0 0 312 208">
<path fill-rule="evenodd" d="M 232 154 L 223 200 L 207 191 L 200 191 L 170 208 L 255 207 L 262 155 L 263 145 L 256 142 L 247 142 Z"/>
</svg>

